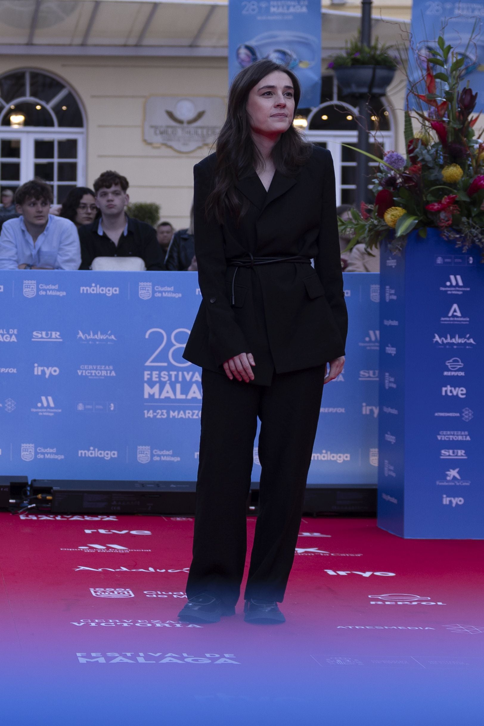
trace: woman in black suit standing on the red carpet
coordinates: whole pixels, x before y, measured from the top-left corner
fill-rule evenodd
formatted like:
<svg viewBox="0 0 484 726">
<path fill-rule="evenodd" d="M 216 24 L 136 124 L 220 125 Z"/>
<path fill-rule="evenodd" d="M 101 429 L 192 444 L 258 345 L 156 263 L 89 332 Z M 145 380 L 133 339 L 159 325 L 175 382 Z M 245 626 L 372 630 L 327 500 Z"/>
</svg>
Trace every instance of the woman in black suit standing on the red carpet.
<svg viewBox="0 0 484 726">
<path fill-rule="evenodd" d="M 335 174 L 330 153 L 292 125 L 299 97 L 296 76 L 270 60 L 240 71 L 216 153 L 194 167 L 202 303 L 184 357 L 202 367 L 203 401 L 184 621 L 235 612 L 258 417 L 245 620 L 284 621 L 277 603 L 295 555 L 323 385 L 343 370 Z"/>
</svg>

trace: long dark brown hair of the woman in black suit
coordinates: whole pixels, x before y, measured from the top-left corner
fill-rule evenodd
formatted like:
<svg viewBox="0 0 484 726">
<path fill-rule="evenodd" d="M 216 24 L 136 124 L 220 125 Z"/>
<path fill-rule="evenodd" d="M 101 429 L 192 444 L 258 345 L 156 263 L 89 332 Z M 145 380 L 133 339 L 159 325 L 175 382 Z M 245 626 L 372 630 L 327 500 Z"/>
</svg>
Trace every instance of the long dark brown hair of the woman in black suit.
<svg viewBox="0 0 484 726">
<path fill-rule="evenodd" d="M 237 73 L 231 83 L 226 120 L 216 142 L 215 186 L 208 196 L 205 210 L 208 216 L 215 216 L 219 224 L 226 212 L 240 219 L 247 211 L 248 205 L 246 202 L 240 203 L 234 183 L 236 179 L 243 179 L 253 173 L 262 161 L 250 133 L 247 99 L 250 90 L 276 70 L 286 73 L 292 81 L 295 113 L 301 94 L 300 84 L 298 77 L 284 65 L 267 59 L 258 60 Z M 293 176 L 310 154 L 311 145 L 303 140 L 300 131 L 291 123 L 275 144 L 272 160 L 277 171 L 284 176 Z"/>
</svg>

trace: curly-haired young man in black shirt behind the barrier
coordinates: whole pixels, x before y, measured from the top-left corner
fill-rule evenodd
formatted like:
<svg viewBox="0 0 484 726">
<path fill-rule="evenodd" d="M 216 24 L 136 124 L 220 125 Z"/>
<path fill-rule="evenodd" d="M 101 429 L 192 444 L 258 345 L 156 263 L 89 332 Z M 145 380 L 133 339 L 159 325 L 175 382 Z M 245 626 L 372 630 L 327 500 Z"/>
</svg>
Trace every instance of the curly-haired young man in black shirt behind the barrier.
<svg viewBox="0 0 484 726">
<path fill-rule="evenodd" d="M 81 270 L 91 269 L 96 257 L 141 257 L 147 270 L 164 270 L 163 250 L 153 227 L 128 217 L 128 179 L 116 171 L 104 171 L 94 181 L 101 218 L 79 228 Z"/>
</svg>

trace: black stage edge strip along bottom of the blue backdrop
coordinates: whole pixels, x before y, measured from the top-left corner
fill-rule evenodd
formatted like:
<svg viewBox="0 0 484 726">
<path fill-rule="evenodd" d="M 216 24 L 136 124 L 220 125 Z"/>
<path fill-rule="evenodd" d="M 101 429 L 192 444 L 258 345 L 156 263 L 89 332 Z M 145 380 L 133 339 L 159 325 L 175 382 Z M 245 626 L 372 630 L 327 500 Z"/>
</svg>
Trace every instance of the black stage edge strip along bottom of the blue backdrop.
<svg viewBox="0 0 484 726">
<path fill-rule="evenodd" d="M 27 486 L 26 477 L 0 477 L 0 507 L 19 497 Z M 247 515 L 258 513 L 258 482 L 253 482 L 247 497 Z M 39 494 L 49 495 L 42 510 L 52 514 L 159 514 L 193 515 L 194 481 L 106 481 L 75 479 L 33 479 L 30 501 Z M 8 490 L 8 491 L 7 491 Z M 304 515 L 375 516 L 376 486 L 341 484 L 308 486 Z"/>
</svg>

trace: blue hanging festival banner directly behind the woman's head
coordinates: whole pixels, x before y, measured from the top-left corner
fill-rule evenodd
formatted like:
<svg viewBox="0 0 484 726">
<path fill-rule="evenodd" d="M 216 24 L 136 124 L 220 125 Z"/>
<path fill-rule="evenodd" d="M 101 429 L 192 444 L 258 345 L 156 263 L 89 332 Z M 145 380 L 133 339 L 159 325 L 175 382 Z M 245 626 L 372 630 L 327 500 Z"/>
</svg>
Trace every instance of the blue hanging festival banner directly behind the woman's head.
<svg viewBox="0 0 484 726">
<path fill-rule="evenodd" d="M 319 0 L 229 0 L 229 83 L 262 58 L 287 66 L 299 78 L 299 106 L 321 97 Z"/>
</svg>

